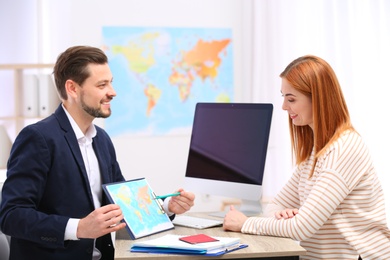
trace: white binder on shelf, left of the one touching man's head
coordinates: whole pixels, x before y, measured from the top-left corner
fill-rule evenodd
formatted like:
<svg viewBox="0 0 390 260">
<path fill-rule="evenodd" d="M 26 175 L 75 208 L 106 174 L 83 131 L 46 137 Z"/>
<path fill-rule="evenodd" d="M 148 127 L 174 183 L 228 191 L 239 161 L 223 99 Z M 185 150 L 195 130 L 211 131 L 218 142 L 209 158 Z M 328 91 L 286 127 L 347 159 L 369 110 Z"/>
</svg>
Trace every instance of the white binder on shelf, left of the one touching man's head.
<svg viewBox="0 0 390 260">
<path fill-rule="evenodd" d="M 22 116 L 38 117 L 38 77 L 35 74 L 24 74 L 22 83 Z"/>
</svg>

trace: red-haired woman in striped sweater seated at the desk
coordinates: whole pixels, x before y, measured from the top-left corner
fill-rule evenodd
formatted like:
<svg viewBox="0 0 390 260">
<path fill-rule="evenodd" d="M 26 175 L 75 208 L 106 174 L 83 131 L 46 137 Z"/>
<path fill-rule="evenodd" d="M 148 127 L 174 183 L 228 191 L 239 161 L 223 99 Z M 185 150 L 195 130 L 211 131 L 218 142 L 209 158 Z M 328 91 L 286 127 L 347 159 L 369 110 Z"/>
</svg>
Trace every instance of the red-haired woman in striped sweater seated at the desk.
<svg viewBox="0 0 390 260">
<path fill-rule="evenodd" d="M 294 173 L 264 217 L 231 206 L 224 229 L 299 240 L 302 259 L 390 259 L 383 191 L 333 69 L 303 56 L 280 76 Z"/>
</svg>

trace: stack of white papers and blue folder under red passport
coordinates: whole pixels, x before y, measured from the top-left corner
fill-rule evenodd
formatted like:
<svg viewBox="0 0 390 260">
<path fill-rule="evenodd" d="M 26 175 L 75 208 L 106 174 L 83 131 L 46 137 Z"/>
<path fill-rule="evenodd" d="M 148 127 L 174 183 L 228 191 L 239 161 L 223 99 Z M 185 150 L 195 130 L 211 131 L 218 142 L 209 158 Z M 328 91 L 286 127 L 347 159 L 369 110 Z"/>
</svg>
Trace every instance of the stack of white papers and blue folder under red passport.
<svg viewBox="0 0 390 260">
<path fill-rule="evenodd" d="M 213 237 L 216 241 L 190 244 L 181 241 L 181 235 L 167 234 L 159 238 L 133 243 L 131 252 L 183 255 L 223 255 L 248 245 L 240 244 L 240 238 Z"/>
</svg>

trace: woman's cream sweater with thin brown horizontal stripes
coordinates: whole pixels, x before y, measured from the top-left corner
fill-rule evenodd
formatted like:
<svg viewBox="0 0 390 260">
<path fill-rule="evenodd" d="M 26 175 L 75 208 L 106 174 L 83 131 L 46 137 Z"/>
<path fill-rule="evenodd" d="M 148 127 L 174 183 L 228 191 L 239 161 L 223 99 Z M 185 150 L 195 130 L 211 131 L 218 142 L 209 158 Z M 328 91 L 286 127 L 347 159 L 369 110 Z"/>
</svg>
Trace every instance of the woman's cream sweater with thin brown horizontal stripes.
<svg viewBox="0 0 390 260">
<path fill-rule="evenodd" d="M 390 259 L 390 230 L 384 195 L 362 138 L 344 132 L 318 158 L 312 156 L 270 205 L 273 211 L 298 208 L 291 219 L 251 217 L 241 232 L 301 241 L 301 259 Z"/>
</svg>

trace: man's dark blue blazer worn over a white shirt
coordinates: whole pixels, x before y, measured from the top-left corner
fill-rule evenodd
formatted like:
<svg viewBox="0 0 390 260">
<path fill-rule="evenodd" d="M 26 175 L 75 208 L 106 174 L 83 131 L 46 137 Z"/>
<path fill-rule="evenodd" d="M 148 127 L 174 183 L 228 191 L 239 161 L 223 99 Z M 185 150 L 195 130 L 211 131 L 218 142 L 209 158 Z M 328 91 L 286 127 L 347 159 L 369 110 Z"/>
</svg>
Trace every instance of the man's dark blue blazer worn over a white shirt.
<svg viewBox="0 0 390 260">
<path fill-rule="evenodd" d="M 96 128 L 93 149 L 102 183 L 123 181 L 109 136 Z M 69 218 L 87 216 L 94 205 L 80 148 L 61 105 L 20 132 L 7 168 L 0 229 L 11 236 L 10 259 L 91 259 L 93 239 L 64 241 Z"/>
</svg>

